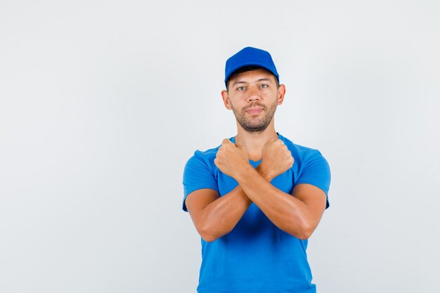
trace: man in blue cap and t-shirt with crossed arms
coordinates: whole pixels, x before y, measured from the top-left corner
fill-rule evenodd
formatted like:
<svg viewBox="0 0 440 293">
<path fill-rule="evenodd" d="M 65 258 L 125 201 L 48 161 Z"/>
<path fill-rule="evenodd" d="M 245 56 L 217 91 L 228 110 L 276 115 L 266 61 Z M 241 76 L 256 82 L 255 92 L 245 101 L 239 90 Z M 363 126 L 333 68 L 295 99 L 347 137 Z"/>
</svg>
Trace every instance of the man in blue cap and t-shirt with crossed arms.
<svg viewBox="0 0 440 293">
<path fill-rule="evenodd" d="M 328 163 L 275 131 L 285 86 L 268 52 L 243 48 L 225 73 L 237 135 L 183 173 L 183 210 L 202 237 L 198 292 L 316 292 L 306 247 L 328 207 Z"/>
</svg>

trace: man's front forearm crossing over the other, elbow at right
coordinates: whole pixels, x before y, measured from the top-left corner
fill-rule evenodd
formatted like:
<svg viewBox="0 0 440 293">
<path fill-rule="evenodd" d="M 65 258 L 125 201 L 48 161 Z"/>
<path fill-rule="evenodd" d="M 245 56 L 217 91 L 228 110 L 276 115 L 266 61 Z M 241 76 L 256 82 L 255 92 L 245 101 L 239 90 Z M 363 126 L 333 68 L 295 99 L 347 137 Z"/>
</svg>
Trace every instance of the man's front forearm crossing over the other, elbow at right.
<svg viewBox="0 0 440 293">
<path fill-rule="evenodd" d="M 273 177 L 273 174 L 250 167 L 235 180 L 247 197 L 257 204 L 274 225 L 300 239 L 308 238 L 317 223 L 307 205 L 273 186 L 270 183 Z"/>
</svg>

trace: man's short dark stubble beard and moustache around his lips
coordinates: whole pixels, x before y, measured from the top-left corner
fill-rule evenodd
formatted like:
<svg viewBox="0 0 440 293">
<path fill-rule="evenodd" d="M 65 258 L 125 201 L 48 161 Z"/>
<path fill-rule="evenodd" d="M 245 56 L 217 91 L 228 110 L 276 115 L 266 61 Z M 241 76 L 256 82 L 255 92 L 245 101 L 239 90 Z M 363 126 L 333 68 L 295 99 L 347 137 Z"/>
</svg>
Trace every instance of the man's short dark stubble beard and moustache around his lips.
<svg viewBox="0 0 440 293">
<path fill-rule="evenodd" d="M 260 107 L 264 110 L 265 115 L 264 117 L 258 118 L 257 120 L 252 118 L 246 117 L 246 110 L 252 107 Z M 250 132 L 252 134 L 259 134 L 266 130 L 267 126 L 271 124 L 271 121 L 273 119 L 273 115 L 275 115 L 277 102 L 273 103 L 269 108 L 267 108 L 264 105 L 260 105 L 257 103 L 252 103 L 249 107 L 243 108 L 241 112 L 238 112 L 237 109 L 232 107 L 232 110 L 235 115 L 235 119 L 237 119 L 238 124 L 242 126 L 242 129 L 245 129 L 245 131 Z"/>
</svg>

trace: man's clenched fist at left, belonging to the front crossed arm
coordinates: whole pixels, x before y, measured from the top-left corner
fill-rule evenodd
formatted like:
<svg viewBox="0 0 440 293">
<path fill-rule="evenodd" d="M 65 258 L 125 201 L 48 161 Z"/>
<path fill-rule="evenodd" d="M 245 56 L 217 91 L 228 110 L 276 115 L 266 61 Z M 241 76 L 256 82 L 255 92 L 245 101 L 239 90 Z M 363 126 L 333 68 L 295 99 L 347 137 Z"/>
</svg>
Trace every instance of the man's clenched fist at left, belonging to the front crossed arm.
<svg viewBox="0 0 440 293">
<path fill-rule="evenodd" d="M 214 164 L 224 174 L 233 178 L 237 178 L 236 176 L 251 167 L 247 157 L 247 149 L 243 145 L 232 143 L 227 138 L 222 141 Z"/>
</svg>

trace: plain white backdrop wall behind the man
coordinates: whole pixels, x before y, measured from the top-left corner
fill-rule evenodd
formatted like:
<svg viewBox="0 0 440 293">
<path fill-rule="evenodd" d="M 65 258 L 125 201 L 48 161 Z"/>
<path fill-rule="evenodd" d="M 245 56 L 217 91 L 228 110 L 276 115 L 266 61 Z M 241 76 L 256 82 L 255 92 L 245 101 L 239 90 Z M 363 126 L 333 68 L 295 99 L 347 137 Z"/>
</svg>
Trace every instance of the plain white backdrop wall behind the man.
<svg viewBox="0 0 440 293">
<path fill-rule="evenodd" d="M 439 292 L 438 1 L 0 1 L 0 292 L 195 292 L 196 149 L 224 63 L 270 51 L 276 130 L 321 150 L 321 293 Z"/>
</svg>

